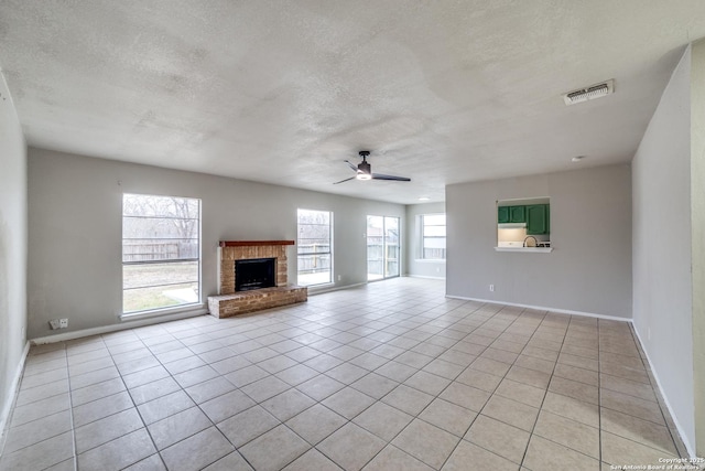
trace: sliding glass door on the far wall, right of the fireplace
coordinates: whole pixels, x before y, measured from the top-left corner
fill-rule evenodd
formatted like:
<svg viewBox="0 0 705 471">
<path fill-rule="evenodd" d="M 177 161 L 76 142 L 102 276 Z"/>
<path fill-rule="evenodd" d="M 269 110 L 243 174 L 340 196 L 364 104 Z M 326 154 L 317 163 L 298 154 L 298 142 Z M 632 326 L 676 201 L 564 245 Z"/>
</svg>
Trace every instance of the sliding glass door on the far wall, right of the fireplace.
<svg viewBox="0 0 705 471">
<path fill-rule="evenodd" d="M 367 216 L 367 279 L 398 277 L 399 217 Z"/>
</svg>

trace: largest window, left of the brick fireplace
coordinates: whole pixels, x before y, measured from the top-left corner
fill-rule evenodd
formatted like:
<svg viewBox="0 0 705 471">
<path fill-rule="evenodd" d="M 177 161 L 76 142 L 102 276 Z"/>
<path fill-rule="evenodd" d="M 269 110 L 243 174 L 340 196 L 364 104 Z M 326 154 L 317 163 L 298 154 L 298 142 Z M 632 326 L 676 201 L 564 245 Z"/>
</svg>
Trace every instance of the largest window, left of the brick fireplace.
<svg viewBox="0 0 705 471">
<path fill-rule="evenodd" d="M 122 195 L 122 312 L 200 301 L 200 200 Z"/>
</svg>

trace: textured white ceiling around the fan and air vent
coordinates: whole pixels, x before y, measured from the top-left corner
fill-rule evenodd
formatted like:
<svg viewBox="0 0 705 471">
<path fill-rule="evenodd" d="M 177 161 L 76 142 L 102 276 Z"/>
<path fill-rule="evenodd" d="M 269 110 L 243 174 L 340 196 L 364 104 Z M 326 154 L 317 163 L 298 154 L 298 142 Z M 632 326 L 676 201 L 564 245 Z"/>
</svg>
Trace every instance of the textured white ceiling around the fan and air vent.
<svg viewBox="0 0 705 471">
<path fill-rule="evenodd" d="M 628 162 L 702 36 L 702 0 L 0 2 L 31 146 L 397 203 Z M 365 149 L 412 182 L 333 185 Z"/>
</svg>

